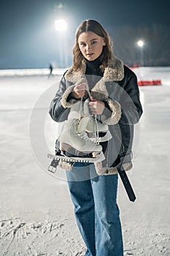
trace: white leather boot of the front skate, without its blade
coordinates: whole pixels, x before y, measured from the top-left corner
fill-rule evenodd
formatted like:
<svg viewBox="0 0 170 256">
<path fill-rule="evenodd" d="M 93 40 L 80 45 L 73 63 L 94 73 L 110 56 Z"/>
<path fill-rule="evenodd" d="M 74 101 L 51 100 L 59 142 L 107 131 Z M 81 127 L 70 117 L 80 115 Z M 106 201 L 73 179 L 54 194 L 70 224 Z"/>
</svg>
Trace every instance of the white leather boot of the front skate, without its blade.
<svg viewBox="0 0 170 256">
<path fill-rule="evenodd" d="M 70 151 L 72 148 L 75 148 L 77 151 L 85 153 L 101 152 L 101 145 L 94 143 L 88 138 L 85 132 L 86 126 L 87 123 L 84 118 L 81 120 L 75 118 L 66 121 L 59 138 L 60 150 Z"/>
</svg>

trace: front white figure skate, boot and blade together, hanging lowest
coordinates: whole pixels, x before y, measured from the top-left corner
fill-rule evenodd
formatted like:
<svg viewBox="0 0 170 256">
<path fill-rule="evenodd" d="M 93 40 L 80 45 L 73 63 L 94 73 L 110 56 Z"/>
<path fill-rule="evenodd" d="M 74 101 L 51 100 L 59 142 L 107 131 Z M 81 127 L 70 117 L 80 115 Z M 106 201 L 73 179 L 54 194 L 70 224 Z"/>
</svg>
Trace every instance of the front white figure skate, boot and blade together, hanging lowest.
<svg viewBox="0 0 170 256">
<path fill-rule="evenodd" d="M 88 138 L 85 128 L 86 118 L 69 119 L 65 122 L 58 138 L 55 155 L 48 154 L 53 159 L 48 170 L 55 173 L 59 161 L 69 162 L 101 162 L 105 159 L 102 146 Z M 93 157 L 93 153 L 96 157 Z"/>
</svg>

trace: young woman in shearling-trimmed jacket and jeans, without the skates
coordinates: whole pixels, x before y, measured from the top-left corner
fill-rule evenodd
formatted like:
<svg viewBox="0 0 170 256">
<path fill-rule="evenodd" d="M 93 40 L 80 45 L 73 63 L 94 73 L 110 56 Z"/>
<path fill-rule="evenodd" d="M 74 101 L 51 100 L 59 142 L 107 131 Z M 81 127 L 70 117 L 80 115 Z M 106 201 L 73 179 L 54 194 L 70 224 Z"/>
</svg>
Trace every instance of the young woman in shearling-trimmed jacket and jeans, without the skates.
<svg viewBox="0 0 170 256">
<path fill-rule="evenodd" d="M 114 56 L 109 35 L 96 20 L 84 20 L 77 28 L 73 55 L 50 116 L 57 122 L 66 120 L 72 106 L 85 101 L 90 91 L 90 113 L 98 115 L 112 135 L 100 143 L 103 161 L 77 163 L 66 171 L 74 214 L 87 246 L 85 256 L 123 256 L 117 165 L 121 163 L 124 170 L 132 167 L 134 124 L 142 115 L 136 75 Z"/>
</svg>

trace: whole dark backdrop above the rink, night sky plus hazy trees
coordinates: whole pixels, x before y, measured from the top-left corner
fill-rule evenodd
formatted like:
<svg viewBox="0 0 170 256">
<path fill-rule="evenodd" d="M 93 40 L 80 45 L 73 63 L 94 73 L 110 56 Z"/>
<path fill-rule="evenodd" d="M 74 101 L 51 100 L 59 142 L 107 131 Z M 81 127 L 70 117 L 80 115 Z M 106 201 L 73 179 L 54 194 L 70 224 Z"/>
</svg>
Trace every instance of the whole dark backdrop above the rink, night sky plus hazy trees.
<svg viewBox="0 0 170 256">
<path fill-rule="evenodd" d="M 62 5 L 62 4 L 63 5 Z M 145 66 L 170 66 L 168 1 L 13 0 L 1 3 L 0 69 L 62 67 L 72 64 L 77 26 L 98 20 L 114 42 L 115 55 L 125 64 L 141 64 L 137 40 L 144 40 Z M 68 29 L 61 40 L 54 21 L 64 18 Z M 59 45 L 61 44 L 61 45 Z M 62 46 L 62 47 L 61 47 Z M 64 53 L 63 53 L 64 51 Z"/>
</svg>

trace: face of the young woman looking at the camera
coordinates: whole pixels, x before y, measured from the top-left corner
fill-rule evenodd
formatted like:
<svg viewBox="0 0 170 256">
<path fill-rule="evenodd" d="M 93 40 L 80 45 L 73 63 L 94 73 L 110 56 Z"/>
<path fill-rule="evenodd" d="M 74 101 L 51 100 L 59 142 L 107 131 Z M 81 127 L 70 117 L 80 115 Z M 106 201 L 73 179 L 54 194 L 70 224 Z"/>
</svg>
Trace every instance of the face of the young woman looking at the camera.
<svg viewBox="0 0 170 256">
<path fill-rule="evenodd" d="M 80 34 L 78 44 L 82 55 L 88 61 L 93 61 L 101 55 L 104 45 L 104 37 L 99 37 L 97 34 L 88 31 Z"/>
</svg>

